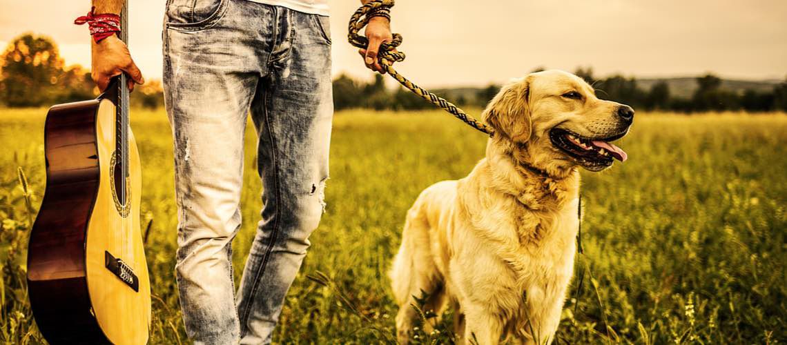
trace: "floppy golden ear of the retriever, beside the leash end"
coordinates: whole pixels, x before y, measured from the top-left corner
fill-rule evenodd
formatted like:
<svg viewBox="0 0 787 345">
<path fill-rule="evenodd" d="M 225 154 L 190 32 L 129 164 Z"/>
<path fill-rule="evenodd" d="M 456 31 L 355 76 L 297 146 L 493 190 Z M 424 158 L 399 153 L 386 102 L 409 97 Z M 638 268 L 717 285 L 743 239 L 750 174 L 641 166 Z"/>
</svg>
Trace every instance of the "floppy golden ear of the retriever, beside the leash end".
<svg viewBox="0 0 787 345">
<path fill-rule="evenodd" d="M 515 142 L 530 140 L 533 126 L 530 120 L 530 83 L 527 78 L 515 79 L 504 85 L 482 113 L 485 123 L 495 134 Z"/>
</svg>

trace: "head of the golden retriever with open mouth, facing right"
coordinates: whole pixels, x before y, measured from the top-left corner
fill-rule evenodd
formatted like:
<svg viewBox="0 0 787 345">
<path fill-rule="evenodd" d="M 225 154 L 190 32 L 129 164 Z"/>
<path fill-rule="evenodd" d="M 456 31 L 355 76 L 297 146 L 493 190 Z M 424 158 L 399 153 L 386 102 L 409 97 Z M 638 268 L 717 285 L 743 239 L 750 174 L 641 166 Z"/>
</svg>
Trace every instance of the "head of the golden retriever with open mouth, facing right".
<svg viewBox="0 0 787 345">
<path fill-rule="evenodd" d="M 503 86 L 482 117 L 519 163 L 560 174 L 625 161 L 626 152 L 610 141 L 628 133 L 634 109 L 600 100 L 578 76 L 551 70 Z"/>
</svg>

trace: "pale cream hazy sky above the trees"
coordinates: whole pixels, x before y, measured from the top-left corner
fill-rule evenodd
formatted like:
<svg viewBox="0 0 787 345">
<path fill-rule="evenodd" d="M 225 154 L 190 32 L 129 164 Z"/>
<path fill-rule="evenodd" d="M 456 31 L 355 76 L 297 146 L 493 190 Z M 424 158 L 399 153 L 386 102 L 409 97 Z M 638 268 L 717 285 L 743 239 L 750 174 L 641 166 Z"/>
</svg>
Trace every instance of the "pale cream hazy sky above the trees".
<svg viewBox="0 0 787 345">
<path fill-rule="evenodd" d="M 245 1 L 245 0 L 231 0 Z M 129 0 L 130 49 L 147 79 L 161 78 L 165 0 Z M 370 79 L 346 42 L 357 0 L 329 0 L 334 75 Z M 0 45 L 48 35 L 67 64 L 90 64 L 87 0 L 0 0 Z M 486 86 L 534 68 L 595 75 L 732 79 L 787 76 L 785 0 L 398 0 L 393 31 L 407 59 L 397 70 L 422 86 Z"/>
</svg>

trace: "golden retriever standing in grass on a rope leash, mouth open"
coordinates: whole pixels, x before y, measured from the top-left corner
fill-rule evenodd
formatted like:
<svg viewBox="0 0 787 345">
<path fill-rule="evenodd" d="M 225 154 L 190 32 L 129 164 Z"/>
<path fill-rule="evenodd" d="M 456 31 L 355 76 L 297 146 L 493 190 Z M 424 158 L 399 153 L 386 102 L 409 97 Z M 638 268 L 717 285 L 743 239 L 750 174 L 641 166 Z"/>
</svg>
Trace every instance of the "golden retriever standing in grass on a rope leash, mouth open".
<svg viewBox="0 0 787 345">
<path fill-rule="evenodd" d="M 577 250 L 579 167 L 626 160 L 610 141 L 626 135 L 634 109 L 545 71 L 503 86 L 482 119 L 495 130 L 486 157 L 408 211 L 390 272 L 401 343 L 424 296 L 424 310 L 456 308 L 460 343 L 552 342 Z"/>
</svg>

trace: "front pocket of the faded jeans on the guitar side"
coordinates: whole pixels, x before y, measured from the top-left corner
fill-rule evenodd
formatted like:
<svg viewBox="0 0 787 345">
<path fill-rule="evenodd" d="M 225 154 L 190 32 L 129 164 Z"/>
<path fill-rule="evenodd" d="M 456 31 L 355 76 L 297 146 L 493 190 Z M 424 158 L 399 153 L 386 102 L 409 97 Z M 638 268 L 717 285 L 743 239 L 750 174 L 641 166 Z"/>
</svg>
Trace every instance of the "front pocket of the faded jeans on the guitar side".
<svg viewBox="0 0 787 345">
<path fill-rule="evenodd" d="M 166 26 L 180 31 L 209 28 L 227 10 L 230 0 L 168 0 Z"/>
</svg>

